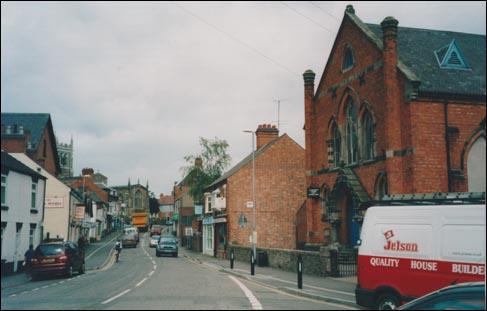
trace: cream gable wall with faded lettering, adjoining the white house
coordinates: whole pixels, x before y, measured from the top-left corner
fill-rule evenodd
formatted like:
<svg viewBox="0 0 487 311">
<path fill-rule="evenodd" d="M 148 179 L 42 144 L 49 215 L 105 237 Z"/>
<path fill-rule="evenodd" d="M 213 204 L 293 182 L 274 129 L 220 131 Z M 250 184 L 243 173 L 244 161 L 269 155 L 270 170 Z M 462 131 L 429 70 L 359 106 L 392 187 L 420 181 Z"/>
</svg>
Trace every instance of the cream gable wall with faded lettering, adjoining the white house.
<svg viewBox="0 0 487 311">
<path fill-rule="evenodd" d="M 32 161 L 24 153 L 11 153 L 11 156 L 27 167 L 46 177 L 46 198 L 44 207 L 44 238 L 63 238 L 76 242 L 75 230 L 70 230 L 73 223 L 71 210 L 80 203 L 71 188 Z M 73 235 L 73 236 L 70 236 Z"/>
</svg>

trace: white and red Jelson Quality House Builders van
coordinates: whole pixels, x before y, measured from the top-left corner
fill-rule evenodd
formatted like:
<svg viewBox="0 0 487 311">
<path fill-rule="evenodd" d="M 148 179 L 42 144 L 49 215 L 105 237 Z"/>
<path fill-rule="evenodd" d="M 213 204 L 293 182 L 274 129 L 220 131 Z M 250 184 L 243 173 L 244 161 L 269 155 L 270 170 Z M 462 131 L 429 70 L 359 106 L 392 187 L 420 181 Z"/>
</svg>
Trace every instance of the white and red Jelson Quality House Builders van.
<svg viewBox="0 0 487 311">
<path fill-rule="evenodd" d="M 356 302 L 380 310 L 485 280 L 485 205 L 374 206 L 364 218 Z"/>
</svg>

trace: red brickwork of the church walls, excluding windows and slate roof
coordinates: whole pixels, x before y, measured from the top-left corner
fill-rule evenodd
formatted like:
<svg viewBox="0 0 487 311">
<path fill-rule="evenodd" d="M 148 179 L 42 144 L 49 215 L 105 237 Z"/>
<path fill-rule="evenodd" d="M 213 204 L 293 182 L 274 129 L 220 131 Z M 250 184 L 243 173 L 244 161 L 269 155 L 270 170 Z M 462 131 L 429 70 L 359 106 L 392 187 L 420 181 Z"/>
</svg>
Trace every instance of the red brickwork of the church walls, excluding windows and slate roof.
<svg viewBox="0 0 487 311">
<path fill-rule="evenodd" d="M 394 21 L 388 19 L 387 23 Z M 408 99 L 409 82 L 396 65 L 393 28 L 388 28 L 385 50 L 381 51 L 346 15 L 312 99 L 313 85 L 306 79 L 308 71 L 304 74 L 307 187 L 333 189 L 337 171 L 328 163 L 327 141 L 331 124 L 336 122 L 344 145 L 345 109 L 352 98 L 359 123 L 368 110 L 375 125 L 375 159 L 350 166 L 370 198 L 376 195 L 376 181 L 382 173 L 386 173 L 389 194 L 448 191 L 446 100 Z M 343 71 L 348 47 L 352 47 L 355 64 Z M 482 120 L 485 102 L 448 102 L 448 126 L 453 128 L 448 154 L 451 168 L 461 171 L 460 177 L 451 180 L 451 191 L 467 190 L 468 172 L 462 155 Z M 341 154 L 346 163 L 346 149 Z M 325 212 L 322 202 L 308 199 L 306 204 L 307 242 L 325 243 L 323 230 L 329 225 L 321 221 Z"/>
</svg>

